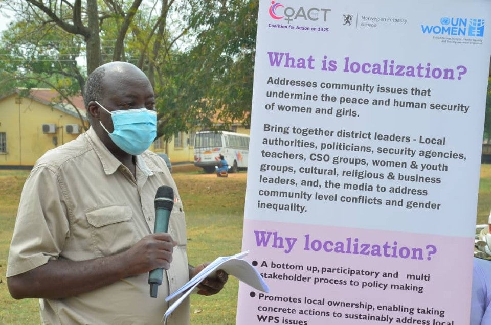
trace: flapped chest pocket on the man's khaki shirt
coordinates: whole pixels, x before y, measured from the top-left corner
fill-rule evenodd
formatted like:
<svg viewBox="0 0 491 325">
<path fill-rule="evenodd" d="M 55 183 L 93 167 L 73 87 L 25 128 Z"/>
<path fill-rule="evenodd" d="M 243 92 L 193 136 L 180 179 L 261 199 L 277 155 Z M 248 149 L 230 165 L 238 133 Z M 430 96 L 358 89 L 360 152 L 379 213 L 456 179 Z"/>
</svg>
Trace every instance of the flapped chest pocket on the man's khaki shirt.
<svg viewBox="0 0 491 325">
<path fill-rule="evenodd" d="M 94 253 L 110 256 L 134 245 L 138 239 L 133 212 L 128 205 L 106 205 L 88 208 L 85 217 L 90 224 Z"/>
</svg>

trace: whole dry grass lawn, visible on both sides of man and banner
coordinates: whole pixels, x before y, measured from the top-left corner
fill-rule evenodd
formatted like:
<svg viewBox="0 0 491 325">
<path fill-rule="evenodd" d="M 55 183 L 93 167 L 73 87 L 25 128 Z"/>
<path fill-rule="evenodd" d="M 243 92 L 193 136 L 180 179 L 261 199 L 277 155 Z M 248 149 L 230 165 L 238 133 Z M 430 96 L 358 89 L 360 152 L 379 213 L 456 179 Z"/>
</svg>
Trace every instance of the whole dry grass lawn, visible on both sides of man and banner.
<svg viewBox="0 0 491 325">
<path fill-rule="evenodd" d="M 246 173 L 218 178 L 193 166 L 174 166 L 174 179 L 186 211 L 191 264 L 240 251 Z M 14 300 L 5 280 L 7 254 L 20 191 L 27 171 L 0 170 L 0 324 L 39 323 L 37 299 Z M 224 195 L 226 193 L 226 195 Z M 482 165 L 477 223 L 491 209 L 491 165 Z M 218 295 L 192 295 L 192 324 L 234 324 L 238 281 L 231 277 Z"/>
</svg>

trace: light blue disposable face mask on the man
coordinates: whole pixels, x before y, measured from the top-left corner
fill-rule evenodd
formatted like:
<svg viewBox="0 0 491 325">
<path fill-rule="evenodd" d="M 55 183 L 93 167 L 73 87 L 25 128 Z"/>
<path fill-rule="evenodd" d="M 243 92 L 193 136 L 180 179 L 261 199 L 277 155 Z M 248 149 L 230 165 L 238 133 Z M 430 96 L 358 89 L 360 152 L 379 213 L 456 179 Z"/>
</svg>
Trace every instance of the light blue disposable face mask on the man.
<svg viewBox="0 0 491 325">
<path fill-rule="evenodd" d="M 137 156 L 150 147 L 157 136 L 157 113 L 146 108 L 121 109 L 108 111 L 95 101 L 106 112 L 111 114 L 114 131 L 107 132 L 109 138 L 124 152 Z"/>
</svg>

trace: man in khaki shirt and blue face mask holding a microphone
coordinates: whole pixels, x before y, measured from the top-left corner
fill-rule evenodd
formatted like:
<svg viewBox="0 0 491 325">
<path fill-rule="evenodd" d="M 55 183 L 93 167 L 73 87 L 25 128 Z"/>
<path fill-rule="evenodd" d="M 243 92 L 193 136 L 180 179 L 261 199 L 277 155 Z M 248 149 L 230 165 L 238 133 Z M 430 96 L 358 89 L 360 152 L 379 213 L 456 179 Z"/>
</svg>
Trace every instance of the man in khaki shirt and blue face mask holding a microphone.
<svg viewBox="0 0 491 325">
<path fill-rule="evenodd" d="M 164 297 L 204 265 L 188 266 L 180 195 L 163 160 L 146 150 L 155 138 L 153 89 L 124 62 L 107 63 L 87 79 L 84 104 L 91 128 L 48 151 L 21 194 L 7 266 L 16 298 L 40 298 L 43 323 L 158 324 Z M 168 233 L 152 234 L 158 187 L 174 190 Z M 164 268 L 159 297 L 148 272 Z M 221 290 L 227 274 L 200 284 Z M 189 301 L 168 318 L 189 323 Z"/>
</svg>

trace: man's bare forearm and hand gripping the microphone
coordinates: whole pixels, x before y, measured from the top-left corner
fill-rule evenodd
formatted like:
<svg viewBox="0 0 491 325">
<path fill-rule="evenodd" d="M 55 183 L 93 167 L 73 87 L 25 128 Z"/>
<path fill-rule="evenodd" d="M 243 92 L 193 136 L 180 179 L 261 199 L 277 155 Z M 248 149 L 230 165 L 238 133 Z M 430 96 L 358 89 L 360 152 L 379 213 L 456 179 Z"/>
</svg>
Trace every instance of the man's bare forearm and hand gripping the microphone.
<svg viewBox="0 0 491 325">
<path fill-rule="evenodd" d="M 25 273 L 7 278 L 15 299 L 61 299 L 89 292 L 121 278 L 169 269 L 177 245 L 168 233 L 142 238 L 130 249 L 112 256 L 86 261 L 49 260 Z"/>
</svg>

